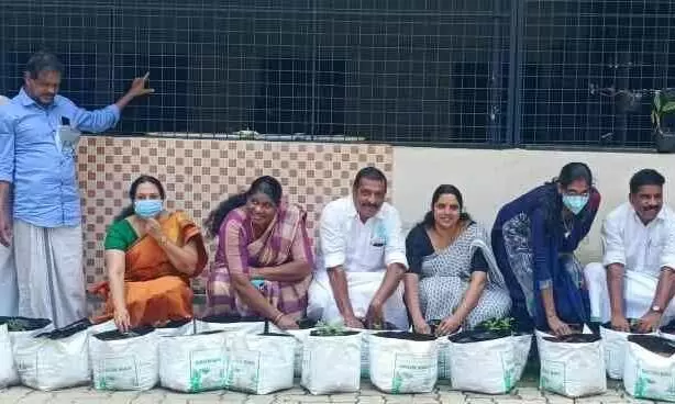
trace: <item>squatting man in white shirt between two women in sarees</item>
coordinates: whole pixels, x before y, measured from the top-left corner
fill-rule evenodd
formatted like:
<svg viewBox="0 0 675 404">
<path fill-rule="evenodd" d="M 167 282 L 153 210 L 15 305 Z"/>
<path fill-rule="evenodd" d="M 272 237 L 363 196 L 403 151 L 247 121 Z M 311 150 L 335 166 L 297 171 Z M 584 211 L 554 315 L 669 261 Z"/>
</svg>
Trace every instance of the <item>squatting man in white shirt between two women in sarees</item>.
<svg viewBox="0 0 675 404">
<path fill-rule="evenodd" d="M 406 240 L 386 193 L 385 175 L 366 167 L 356 175 L 352 195 L 323 209 L 308 317 L 343 319 L 353 328 L 384 321 L 408 329 L 400 282 L 408 269 Z"/>
</svg>

